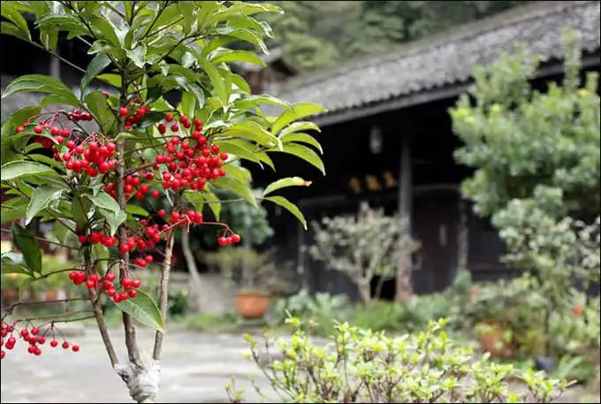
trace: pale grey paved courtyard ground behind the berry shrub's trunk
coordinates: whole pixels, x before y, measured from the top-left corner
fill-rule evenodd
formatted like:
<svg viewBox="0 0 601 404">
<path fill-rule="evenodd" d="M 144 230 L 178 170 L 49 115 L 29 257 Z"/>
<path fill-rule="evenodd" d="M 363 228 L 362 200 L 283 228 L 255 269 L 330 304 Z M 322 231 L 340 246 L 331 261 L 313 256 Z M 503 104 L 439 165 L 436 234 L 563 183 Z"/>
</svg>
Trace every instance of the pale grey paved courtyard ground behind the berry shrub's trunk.
<svg viewBox="0 0 601 404">
<path fill-rule="evenodd" d="M 152 349 L 152 332 L 141 332 L 141 348 Z M 125 347 L 123 332 L 111 332 L 115 347 Z M 69 338 L 80 352 L 46 346 L 40 357 L 27 354 L 19 340 L 2 361 L 2 402 L 127 402 L 126 385 L 110 369 L 108 356 L 94 329 Z M 225 385 L 232 376 L 247 386 L 247 401 L 258 397 L 248 377 L 266 384 L 261 370 L 247 361 L 240 334 L 173 333 L 164 339 L 161 390 L 157 402 L 228 402 Z M 125 352 L 120 351 L 121 357 Z"/>
</svg>

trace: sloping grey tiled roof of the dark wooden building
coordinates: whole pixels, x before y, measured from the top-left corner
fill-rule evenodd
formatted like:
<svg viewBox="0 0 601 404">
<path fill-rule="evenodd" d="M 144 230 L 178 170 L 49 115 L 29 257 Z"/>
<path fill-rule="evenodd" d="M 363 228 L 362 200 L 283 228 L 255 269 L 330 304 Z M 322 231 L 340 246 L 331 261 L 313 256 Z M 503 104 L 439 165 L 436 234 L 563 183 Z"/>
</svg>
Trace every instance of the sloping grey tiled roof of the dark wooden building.
<svg viewBox="0 0 601 404">
<path fill-rule="evenodd" d="M 278 96 L 321 103 L 333 112 L 407 97 L 465 82 L 516 42 L 542 57 L 562 57 L 562 28 L 574 27 L 582 48 L 599 48 L 599 2 L 533 2 L 487 19 L 408 42 L 384 55 L 363 57 L 286 81 Z"/>
</svg>

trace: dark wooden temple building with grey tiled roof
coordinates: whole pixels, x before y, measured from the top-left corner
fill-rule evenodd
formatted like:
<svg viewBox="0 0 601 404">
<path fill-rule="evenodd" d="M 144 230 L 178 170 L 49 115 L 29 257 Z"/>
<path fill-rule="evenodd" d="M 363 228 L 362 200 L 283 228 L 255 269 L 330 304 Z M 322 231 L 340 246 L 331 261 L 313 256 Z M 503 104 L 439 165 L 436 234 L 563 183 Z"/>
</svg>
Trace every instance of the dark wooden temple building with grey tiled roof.
<svg viewBox="0 0 601 404">
<path fill-rule="evenodd" d="M 453 159 L 460 141 L 448 109 L 470 85 L 475 65 L 489 65 L 517 43 L 540 57 L 537 88 L 560 80 L 564 27 L 573 27 L 580 38 L 583 68 L 598 71 L 599 2 L 531 2 L 381 56 L 285 80 L 279 97 L 320 103 L 328 110 L 315 117 L 327 175 L 274 158 L 278 167 L 295 164 L 289 172 L 278 168 L 278 176 L 300 174 L 313 181 L 286 196 L 298 202 L 308 221 L 356 212 L 364 201 L 391 214 L 407 212 L 422 243 L 413 272 L 417 293 L 449 286 L 458 271 L 471 271 L 475 280 L 512 275 L 499 261 L 503 244 L 490 221 L 476 217 L 461 198 L 460 182 L 470 170 Z M 262 174 L 255 179 L 267 182 Z M 287 212 L 278 213 L 272 225 L 280 253 L 295 257 L 304 285 L 353 293 L 348 278 L 303 253 L 310 231 L 302 231 Z M 384 294 L 392 296 L 394 282 L 387 286 Z"/>
</svg>

